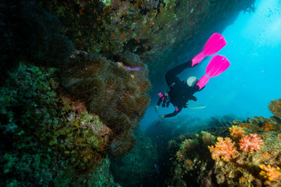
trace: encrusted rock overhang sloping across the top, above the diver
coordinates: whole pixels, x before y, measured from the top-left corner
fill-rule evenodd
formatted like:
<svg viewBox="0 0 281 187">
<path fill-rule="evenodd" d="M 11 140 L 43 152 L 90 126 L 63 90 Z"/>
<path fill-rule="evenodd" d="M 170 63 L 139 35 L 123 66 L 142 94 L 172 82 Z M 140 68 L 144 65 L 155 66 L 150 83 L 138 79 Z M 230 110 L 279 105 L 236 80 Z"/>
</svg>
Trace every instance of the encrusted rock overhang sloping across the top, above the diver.
<svg viewBox="0 0 281 187">
<path fill-rule="evenodd" d="M 254 10 L 254 0 L 37 2 L 58 16 L 77 50 L 110 60 L 124 51 L 136 53 L 153 70 L 155 82 L 164 81 L 155 78 L 164 75 L 165 69 L 158 67 L 190 60 L 202 49 L 195 43 L 222 31 L 239 11 Z"/>
</svg>

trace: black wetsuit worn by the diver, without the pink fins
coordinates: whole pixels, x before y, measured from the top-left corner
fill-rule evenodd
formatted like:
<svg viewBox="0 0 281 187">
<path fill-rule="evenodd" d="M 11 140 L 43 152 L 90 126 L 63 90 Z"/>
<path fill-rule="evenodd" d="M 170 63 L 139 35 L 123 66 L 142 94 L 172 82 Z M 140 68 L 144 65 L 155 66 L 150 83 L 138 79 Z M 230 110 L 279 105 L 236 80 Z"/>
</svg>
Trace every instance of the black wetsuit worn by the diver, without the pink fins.
<svg viewBox="0 0 281 187">
<path fill-rule="evenodd" d="M 157 106 L 159 106 L 162 101 L 164 105 L 169 105 L 171 102 L 175 107 L 175 111 L 171 114 L 164 115 L 164 117 L 173 117 L 177 115 L 183 108 L 186 108 L 186 103 L 189 100 L 197 101 L 197 98 L 193 96 L 196 91 L 200 90 L 200 87 L 195 84 L 195 86 L 188 86 L 185 82 L 181 82 L 176 75 L 180 74 L 185 70 L 185 68 L 191 67 L 191 60 L 187 63 L 183 63 L 174 67 L 166 73 L 166 83 L 169 86 L 168 94 L 160 94 Z M 202 89 L 201 89 L 202 90 Z M 164 107 L 164 105 L 162 105 Z"/>
</svg>

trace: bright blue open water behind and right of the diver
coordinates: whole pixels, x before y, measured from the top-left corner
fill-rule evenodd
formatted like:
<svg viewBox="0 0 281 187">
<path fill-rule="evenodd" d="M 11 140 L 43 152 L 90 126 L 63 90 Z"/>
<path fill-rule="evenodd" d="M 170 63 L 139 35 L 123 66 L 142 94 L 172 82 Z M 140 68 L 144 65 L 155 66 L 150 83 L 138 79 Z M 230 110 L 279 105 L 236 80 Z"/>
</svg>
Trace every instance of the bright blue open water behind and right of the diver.
<svg viewBox="0 0 281 187">
<path fill-rule="evenodd" d="M 207 108 L 183 109 L 179 115 L 202 119 L 235 115 L 240 120 L 273 115 L 268 110 L 268 103 L 281 97 L 281 1 L 259 0 L 255 8 L 254 13 L 241 12 L 221 33 L 227 45 L 216 54 L 226 56 L 230 67 L 218 77 L 211 78 L 207 86 L 194 95 L 197 102 Z M 202 61 L 196 70 L 185 70 L 179 77 L 182 80 L 189 76 L 200 79 L 210 59 Z M 155 104 L 152 102 L 146 111 L 141 121 L 142 130 L 157 120 Z M 159 109 L 161 114 L 173 111 L 173 105 L 169 109 Z"/>
</svg>

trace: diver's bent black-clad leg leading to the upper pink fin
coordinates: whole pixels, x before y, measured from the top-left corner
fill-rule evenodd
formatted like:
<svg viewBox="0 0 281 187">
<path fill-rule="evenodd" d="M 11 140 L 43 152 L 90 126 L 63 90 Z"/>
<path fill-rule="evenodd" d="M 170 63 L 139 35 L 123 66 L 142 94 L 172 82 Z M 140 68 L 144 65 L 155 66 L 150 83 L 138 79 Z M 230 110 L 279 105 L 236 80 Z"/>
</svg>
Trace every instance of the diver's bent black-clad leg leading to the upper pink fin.
<svg viewBox="0 0 281 187">
<path fill-rule="evenodd" d="M 191 65 L 192 65 L 192 61 L 190 60 L 187 63 L 178 65 L 178 66 L 172 68 L 171 70 L 169 70 L 168 72 L 166 72 L 166 83 L 168 84 L 168 86 L 171 86 L 171 84 L 178 82 L 179 79 L 178 79 L 178 77 L 176 77 L 176 75 L 183 72 L 183 70 L 185 70 L 185 68 L 191 67 Z"/>
</svg>

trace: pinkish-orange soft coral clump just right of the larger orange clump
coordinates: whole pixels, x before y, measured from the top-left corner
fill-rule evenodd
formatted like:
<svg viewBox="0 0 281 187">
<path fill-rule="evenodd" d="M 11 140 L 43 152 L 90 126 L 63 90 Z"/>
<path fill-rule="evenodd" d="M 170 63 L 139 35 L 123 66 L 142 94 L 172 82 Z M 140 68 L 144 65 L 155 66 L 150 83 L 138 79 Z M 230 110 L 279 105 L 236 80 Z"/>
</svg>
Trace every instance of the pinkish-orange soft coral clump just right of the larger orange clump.
<svg viewBox="0 0 281 187">
<path fill-rule="evenodd" d="M 239 141 L 240 149 L 244 152 L 254 152 L 254 150 L 260 150 L 263 145 L 263 140 L 258 134 L 249 134 L 244 136 Z"/>
</svg>

